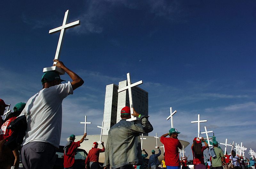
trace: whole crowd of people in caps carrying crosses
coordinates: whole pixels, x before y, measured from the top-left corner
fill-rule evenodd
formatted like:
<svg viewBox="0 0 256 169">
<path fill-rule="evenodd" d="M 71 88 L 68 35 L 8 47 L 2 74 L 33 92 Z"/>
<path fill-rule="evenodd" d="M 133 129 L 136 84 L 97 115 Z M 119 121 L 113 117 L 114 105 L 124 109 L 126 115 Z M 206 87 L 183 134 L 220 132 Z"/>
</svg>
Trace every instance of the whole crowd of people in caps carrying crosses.
<svg viewBox="0 0 256 169">
<path fill-rule="evenodd" d="M 53 168 L 56 149 L 59 148 L 61 122 L 62 122 L 62 100 L 73 91 L 83 85 L 84 81 L 76 73 L 69 70 L 61 61 L 54 66 L 64 70 L 72 82 L 61 84 L 60 75 L 54 71 L 44 73 L 41 78 L 43 89 L 28 99 L 26 103 L 17 103 L 13 107 L 13 112 L 9 113 L 3 120 L 0 116 L 0 169 L 19 166 L 19 151 L 23 168 L 25 169 L 51 169 Z M 0 99 L 0 115 L 4 114 L 5 104 Z M 139 121 L 126 121 L 131 115 L 138 117 Z M 100 143 L 102 149 L 98 148 L 98 143 L 94 142 L 92 149 L 86 158 L 85 168 L 99 168 L 99 154 L 105 152 L 104 169 L 132 169 L 137 165 L 138 169 L 145 168 L 144 159 L 148 153 L 140 146 L 140 134 L 153 131 L 153 126 L 148 121 L 148 116 L 139 114 L 130 107 L 122 108 L 120 112 L 121 120 L 113 125 L 108 132 L 106 147 L 104 142 Z M 159 165 L 167 169 L 187 169 L 187 157 L 179 157 L 179 149 L 182 145 L 178 139 L 180 132 L 171 128 L 168 133 L 161 136 L 160 141 L 164 144 L 164 159 L 159 163 L 158 153 L 151 151 L 148 161 L 148 169 L 157 169 Z M 70 135 L 68 143 L 64 147 L 64 168 L 73 169 L 76 148 L 84 142 L 86 133 L 81 140 L 75 142 L 76 136 Z M 168 137 L 167 137 L 168 136 Z M 204 143 L 204 146 L 202 145 Z M 22 148 L 21 148 L 22 147 Z M 21 150 L 20 150 L 21 149 Z M 207 162 L 204 160 L 204 150 L 209 146 L 203 138 L 196 137 L 191 146 L 193 154 L 194 169 L 225 169 L 225 168 L 249 168 L 255 169 L 255 159 L 246 159 L 232 155 L 224 155 L 218 148 L 218 142 L 213 142 L 214 156 Z M 145 152 L 145 154 L 142 153 Z M 243 167 L 244 166 L 244 167 Z"/>
</svg>

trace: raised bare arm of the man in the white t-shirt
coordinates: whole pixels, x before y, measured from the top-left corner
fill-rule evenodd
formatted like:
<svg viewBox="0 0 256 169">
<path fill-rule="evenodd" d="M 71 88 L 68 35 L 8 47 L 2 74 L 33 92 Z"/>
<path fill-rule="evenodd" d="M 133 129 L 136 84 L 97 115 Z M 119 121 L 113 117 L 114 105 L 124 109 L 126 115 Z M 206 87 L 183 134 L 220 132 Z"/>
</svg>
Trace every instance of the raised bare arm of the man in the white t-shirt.
<svg viewBox="0 0 256 169">
<path fill-rule="evenodd" d="M 63 64 L 63 62 L 59 61 L 58 59 L 54 59 L 53 61 L 57 62 L 57 64 L 53 64 L 53 66 L 57 66 L 57 67 L 61 68 L 62 70 L 64 70 L 68 74 L 68 76 L 72 79 L 73 82 L 71 82 L 71 85 L 72 85 L 73 90 L 75 90 L 76 88 L 78 88 L 84 84 L 84 80 L 81 77 L 79 77 L 75 72 L 68 69 Z"/>
</svg>

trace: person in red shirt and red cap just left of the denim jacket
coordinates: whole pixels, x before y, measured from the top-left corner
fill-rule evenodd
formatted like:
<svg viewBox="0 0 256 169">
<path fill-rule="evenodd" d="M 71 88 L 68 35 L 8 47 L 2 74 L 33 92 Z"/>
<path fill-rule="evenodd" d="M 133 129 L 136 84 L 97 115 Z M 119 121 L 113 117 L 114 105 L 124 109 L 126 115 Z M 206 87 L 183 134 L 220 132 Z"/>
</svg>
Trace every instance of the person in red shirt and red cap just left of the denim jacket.
<svg viewBox="0 0 256 169">
<path fill-rule="evenodd" d="M 98 143 L 94 142 L 92 144 L 92 149 L 89 151 L 88 156 L 85 160 L 85 168 L 88 168 L 88 163 L 90 162 L 91 169 L 98 169 L 99 165 L 99 156 L 101 152 L 105 152 L 104 142 L 101 142 L 102 149 L 98 148 Z"/>
</svg>

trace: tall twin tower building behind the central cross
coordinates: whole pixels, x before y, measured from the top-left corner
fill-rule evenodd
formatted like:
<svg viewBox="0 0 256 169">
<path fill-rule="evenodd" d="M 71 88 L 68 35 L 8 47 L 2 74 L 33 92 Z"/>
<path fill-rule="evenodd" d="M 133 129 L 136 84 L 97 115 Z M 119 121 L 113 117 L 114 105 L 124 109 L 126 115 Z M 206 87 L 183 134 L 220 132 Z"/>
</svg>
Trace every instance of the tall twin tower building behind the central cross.
<svg viewBox="0 0 256 169">
<path fill-rule="evenodd" d="M 118 89 L 127 86 L 127 80 L 119 82 L 118 85 L 111 84 L 106 86 L 104 104 L 104 128 L 110 129 L 114 124 L 121 120 L 120 112 L 125 106 L 130 107 L 128 90 L 117 92 Z M 148 92 L 138 86 L 132 87 L 132 103 L 134 109 L 142 114 L 148 115 Z M 108 130 L 103 130 L 103 135 L 108 135 Z M 144 134 L 148 136 L 148 134 Z"/>
</svg>

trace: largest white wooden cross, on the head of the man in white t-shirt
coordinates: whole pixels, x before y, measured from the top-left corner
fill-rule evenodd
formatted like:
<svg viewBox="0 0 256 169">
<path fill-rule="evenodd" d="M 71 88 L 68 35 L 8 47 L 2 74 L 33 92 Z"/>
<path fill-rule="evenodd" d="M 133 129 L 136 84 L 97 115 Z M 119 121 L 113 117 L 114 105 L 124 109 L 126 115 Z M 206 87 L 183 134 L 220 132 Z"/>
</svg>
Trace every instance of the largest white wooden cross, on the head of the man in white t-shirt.
<svg viewBox="0 0 256 169">
<path fill-rule="evenodd" d="M 60 32 L 60 38 L 59 38 L 59 42 L 58 42 L 58 46 L 57 46 L 57 50 L 56 50 L 54 59 L 60 59 L 60 51 L 61 51 L 61 46 L 62 46 L 62 43 L 63 43 L 62 39 L 65 35 L 66 29 L 80 25 L 79 20 L 77 20 L 75 22 L 72 22 L 72 23 L 69 23 L 69 24 L 67 24 L 67 22 L 68 22 L 68 10 L 65 12 L 65 16 L 64 16 L 62 26 L 57 27 L 57 28 L 52 29 L 52 30 L 49 31 L 50 34 Z M 56 64 L 56 62 L 53 62 L 53 64 Z M 47 71 L 51 71 L 51 70 L 57 71 L 60 75 L 63 75 L 65 73 L 64 70 L 60 69 L 57 66 L 44 68 L 43 72 L 47 72 Z"/>
</svg>

